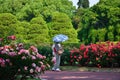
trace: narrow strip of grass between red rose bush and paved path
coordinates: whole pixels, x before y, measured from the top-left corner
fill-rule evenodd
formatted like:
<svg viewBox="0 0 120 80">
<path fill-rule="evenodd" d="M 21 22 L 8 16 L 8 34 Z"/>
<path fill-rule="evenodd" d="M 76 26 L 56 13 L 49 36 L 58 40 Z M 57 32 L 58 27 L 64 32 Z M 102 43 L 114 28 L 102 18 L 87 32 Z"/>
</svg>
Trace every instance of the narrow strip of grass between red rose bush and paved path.
<svg viewBox="0 0 120 80">
<path fill-rule="evenodd" d="M 120 72 L 120 68 L 97 68 L 80 66 L 60 66 L 63 71 Z"/>
</svg>

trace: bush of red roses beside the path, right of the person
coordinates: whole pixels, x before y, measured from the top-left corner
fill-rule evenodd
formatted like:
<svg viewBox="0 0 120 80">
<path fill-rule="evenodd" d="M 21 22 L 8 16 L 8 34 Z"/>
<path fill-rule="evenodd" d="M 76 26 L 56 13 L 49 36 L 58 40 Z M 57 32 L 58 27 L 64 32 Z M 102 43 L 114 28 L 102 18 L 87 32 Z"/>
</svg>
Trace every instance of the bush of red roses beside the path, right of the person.
<svg viewBox="0 0 120 80">
<path fill-rule="evenodd" d="M 120 66 L 120 42 L 81 45 L 71 50 L 70 63 L 82 66 L 114 67 Z"/>
</svg>

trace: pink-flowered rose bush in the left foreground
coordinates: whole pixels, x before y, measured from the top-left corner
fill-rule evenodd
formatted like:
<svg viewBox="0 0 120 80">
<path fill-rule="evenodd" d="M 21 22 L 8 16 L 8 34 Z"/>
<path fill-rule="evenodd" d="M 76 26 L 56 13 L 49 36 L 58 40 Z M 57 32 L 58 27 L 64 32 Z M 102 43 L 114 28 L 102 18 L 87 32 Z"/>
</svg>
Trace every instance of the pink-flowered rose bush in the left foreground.
<svg viewBox="0 0 120 80">
<path fill-rule="evenodd" d="M 16 38 L 9 36 L 8 39 Z M 46 57 L 38 53 L 35 46 L 28 49 L 25 49 L 22 43 L 0 46 L 0 80 L 14 80 L 18 75 L 25 80 L 28 76 L 34 78 L 49 67 Z"/>
</svg>

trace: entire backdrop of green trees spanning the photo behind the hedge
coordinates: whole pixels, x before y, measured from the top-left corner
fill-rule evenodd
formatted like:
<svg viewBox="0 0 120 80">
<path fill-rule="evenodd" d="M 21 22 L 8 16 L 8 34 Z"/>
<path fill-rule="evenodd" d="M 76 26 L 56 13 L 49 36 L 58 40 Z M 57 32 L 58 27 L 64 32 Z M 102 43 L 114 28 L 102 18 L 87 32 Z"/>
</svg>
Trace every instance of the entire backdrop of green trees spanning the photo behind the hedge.
<svg viewBox="0 0 120 80">
<path fill-rule="evenodd" d="M 51 43 L 66 34 L 65 43 L 96 43 L 120 40 L 120 0 L 0 0 L 0 38 L 16 35 L 23 43 Z M 83 4 L 83 6 L 81 6 Z"/>
</svg>

